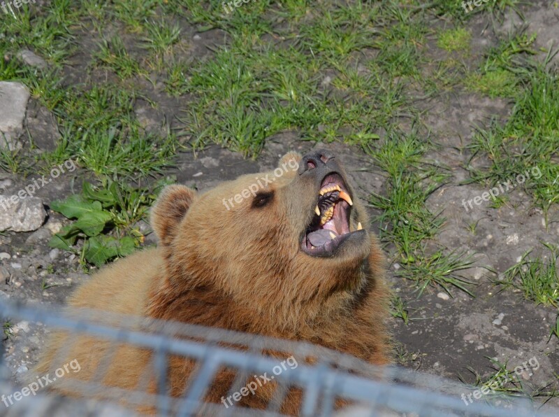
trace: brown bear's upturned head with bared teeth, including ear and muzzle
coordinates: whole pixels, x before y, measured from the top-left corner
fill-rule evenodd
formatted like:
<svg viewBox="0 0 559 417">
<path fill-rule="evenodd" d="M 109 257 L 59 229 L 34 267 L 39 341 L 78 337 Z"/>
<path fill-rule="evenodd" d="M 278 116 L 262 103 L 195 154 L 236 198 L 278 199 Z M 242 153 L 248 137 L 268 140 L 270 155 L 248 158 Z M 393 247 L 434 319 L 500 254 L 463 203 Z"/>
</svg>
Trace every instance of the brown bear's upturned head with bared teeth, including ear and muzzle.
<svg viewBox="0 0 559 417">
<path fill-rule="evenodd" d="M 168 288 L 217 290 L 279 327 L 347 309 L 367 290 L 382 267 L 368 222 L 327 150 L 287 153 L 274 171 L 207 192 L 170 185 L 152 209 Z"/>
</svg>

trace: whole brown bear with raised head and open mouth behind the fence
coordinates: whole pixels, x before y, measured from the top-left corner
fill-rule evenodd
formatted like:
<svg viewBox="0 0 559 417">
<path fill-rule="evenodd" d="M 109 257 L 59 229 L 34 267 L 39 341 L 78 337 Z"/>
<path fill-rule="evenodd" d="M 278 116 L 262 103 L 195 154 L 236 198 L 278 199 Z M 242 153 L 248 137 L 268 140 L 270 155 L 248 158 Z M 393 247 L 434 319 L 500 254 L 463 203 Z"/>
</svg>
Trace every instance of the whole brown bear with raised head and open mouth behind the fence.
<svg viewBox="0 0 559 417">
<path fill-rule="evenodd" d="M 159 247 L 95 274 L 70 306 L 309 341 L 375 365 L 389 362 L 384 257 L 332 153 L 287 153 L 273 172 L 203 193 L 170 185 L 151 220 Z M 66 337 L 53 335 L 36 372 L 59 366 L 52 361 L 61 360 Z M 69 337 L 67 358 L 81 367 L 71 377 L 89 380 L 108 342 Z M 103 383 L 135 388 L 150 358 L 150 351 L 121 346 Z M 170 360 L 170 395 L 182 395 L 193 367 Z M 222 402 L 233 376 L 222 374 L 205 400 Z M 262 409 L 272 396 L 270 384 L 240 405 Z M 299 405 L 300 392 L 291 390 L 281 411 L 297 415 Z"/>
</svg>

